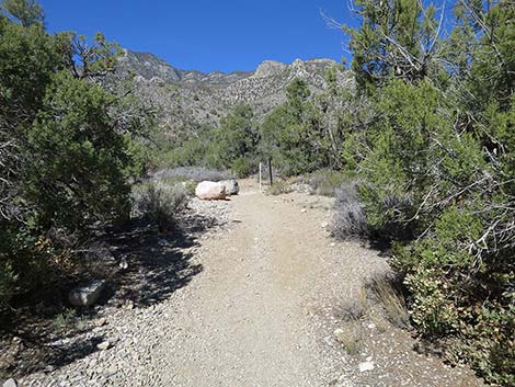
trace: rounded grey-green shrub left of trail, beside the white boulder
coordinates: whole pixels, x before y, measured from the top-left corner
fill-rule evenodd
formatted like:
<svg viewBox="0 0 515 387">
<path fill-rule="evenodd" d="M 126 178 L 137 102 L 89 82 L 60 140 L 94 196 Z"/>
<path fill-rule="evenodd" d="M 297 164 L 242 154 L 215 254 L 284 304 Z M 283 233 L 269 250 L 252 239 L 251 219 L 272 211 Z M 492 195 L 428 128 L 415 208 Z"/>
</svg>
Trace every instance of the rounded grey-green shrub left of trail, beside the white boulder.
<svg viewBox="0 0 515 387">
<path fill-rule="evenodd" d="M 133 214 L 157 226 L 159 231 L 176 225 L 178 215 L 186 208 L 187 192 L 181 184 L 145 183 L 133 190 Z"/>
</svg>

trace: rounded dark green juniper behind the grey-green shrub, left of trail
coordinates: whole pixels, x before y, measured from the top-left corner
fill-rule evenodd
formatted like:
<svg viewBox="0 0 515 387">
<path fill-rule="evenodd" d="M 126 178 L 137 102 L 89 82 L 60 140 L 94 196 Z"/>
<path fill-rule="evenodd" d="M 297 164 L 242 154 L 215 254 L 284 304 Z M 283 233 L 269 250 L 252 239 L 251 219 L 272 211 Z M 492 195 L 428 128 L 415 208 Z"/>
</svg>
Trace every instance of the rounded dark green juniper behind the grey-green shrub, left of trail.
<svg viewBox="0 0 515 387">
<path fill-rule="evenodd" d="M 125 139 L 105 129 L 112 123 L 112 103 L 113 95 L 69 72 L 56 73 L 48 86 L 27 130 L 27 151 L 37 161 L 24 187 L 25 197 L 41 208 L 42 227 L 76 230 L 127 214 Z"/>
</svg>

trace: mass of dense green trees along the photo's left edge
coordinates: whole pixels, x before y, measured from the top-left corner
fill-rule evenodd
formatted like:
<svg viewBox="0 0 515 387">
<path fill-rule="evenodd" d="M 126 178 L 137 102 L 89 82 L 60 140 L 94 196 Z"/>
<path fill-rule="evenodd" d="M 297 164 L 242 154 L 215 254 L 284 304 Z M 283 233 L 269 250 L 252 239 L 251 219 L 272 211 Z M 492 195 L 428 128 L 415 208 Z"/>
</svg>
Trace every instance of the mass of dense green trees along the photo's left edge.
<svg viewBox="0 0 515 387">
<path fill-rule="evenodd" d="M 147 112 L 104 77 L 119 48 L 48 34 L 35 1 L 0 16 L 0 303 L 58 281 L 91 226 L 129 214 Z M 127 112 L 129 112 L 128 114 Z M 73 236 L 73 237 L 71 237 Z"/>
</svg>

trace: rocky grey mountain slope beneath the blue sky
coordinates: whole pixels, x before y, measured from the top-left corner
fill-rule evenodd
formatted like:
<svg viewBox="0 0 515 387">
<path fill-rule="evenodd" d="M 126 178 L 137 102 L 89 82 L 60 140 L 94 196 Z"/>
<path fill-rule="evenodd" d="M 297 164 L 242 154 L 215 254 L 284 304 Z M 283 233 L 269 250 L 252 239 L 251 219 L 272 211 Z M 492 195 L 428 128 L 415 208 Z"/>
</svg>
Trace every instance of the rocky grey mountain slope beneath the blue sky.
<svg viewBox="0 0 515 387">
<path fill-rule="evenodd" d="M 152 54 L 125 50 L 117 72 L 136 75 L 141 98 L 160 111 L 169 129 L 216 124 L 237 104 L 249 104 L 258 118 L 285 101 L 285 91 L 295 78 L 304 79 L 311 92 L 325 89 L 324 73 L 339 68 L 332 59 L 296 59 L 286 65 L 265 60 L 254 71 L 202 72 L 181 70 Z M 351 82 L 347 71 L 339 71 L 339 82 Z"/>
</svg>

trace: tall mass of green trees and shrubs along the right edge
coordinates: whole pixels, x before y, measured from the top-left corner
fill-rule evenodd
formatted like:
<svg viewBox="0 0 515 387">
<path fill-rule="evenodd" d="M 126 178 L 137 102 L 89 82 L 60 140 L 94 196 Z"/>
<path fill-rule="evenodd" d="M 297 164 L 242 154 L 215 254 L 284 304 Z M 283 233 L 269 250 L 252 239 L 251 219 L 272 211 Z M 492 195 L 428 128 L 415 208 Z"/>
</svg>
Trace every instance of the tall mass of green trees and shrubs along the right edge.
<svg viewBox="0 0 515 387">
<path fill-rule="evenodd" d="M 368 226 L 396 246 L 414 326 L 513 385 L 514 8 L 458 2 L 444 39 L 436 10 L 387 4 L 358 2 L 363 25 L 347 29 L 366 103 L 347 121 L 346 168 Z"/>
</svg>

